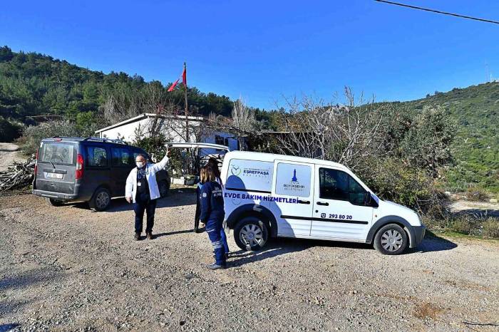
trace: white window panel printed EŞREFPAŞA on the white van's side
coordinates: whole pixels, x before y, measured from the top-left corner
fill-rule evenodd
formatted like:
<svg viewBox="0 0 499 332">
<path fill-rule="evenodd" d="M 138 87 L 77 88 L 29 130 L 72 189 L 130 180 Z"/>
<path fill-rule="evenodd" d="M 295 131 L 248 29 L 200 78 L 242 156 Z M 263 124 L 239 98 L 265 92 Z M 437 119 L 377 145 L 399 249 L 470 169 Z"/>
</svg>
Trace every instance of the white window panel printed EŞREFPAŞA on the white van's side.
<svg viewBox="0 0 499 332">
<path fill-rule="evenodd" d="M 271 192 L 274 162 L 232 159 L 227 171 L 227 190 Z"/>
</svg>

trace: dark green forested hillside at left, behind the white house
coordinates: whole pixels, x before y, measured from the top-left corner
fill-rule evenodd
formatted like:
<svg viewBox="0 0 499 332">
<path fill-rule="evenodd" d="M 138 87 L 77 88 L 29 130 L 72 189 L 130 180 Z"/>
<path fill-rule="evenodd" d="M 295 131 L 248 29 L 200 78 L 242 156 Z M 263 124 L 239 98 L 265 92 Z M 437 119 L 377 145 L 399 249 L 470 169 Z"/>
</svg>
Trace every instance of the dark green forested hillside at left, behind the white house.
<svg viewBox="0 0 499 332">
<path fill-rule="evenodd" d="M 13 52 L 0 47 L 0 115 L 33 123 L 33 115 L 62 115 L 65 118 L 93 118 L 110 95 L 133 100 L 148 86 L 165 88 L 160 82 L 145 82 L 138 75 L 104 74 L 39 53 Z M 182 90 L 168 93 L 171 103 L 183 103 Z M 225 95 L 202 93 L 189 88 L 190 110 L 199 115 L 230 115 L 232 101 Z M 181 109 L 181 108 L 179 108 Z M 81 113 L 84 114 L 81 115 Z"/>
</svg>

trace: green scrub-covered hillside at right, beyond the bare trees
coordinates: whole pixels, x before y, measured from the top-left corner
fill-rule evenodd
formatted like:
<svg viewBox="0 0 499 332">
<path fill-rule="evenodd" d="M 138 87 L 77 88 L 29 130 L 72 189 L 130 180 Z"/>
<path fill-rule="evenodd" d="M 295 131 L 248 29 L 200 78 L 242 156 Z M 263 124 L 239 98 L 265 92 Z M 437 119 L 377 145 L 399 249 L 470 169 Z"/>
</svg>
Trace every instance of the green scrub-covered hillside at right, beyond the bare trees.
<svg viewBox="0 0 499 332">
<path fill-rule="evenodd" d="M 454 88 L 396 105 L 411 110 L 440 105 L 453 115 L 458 131 L 451 146 L 455 165 L 446 173 L 448 184 L 455 190 L 478 185 L 499 192 L 499 83 Z"/>
</svg>

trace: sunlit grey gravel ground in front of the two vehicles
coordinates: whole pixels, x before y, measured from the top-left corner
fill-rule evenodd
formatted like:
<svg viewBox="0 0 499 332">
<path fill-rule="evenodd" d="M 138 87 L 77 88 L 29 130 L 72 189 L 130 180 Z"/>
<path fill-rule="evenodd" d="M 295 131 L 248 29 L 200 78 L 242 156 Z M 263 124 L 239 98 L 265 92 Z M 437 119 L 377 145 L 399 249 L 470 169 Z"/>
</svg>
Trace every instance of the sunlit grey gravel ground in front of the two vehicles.
<svg viewBox="0 0 499 332">
<path fill-rule="evenodd" d="M 158 203 L 133 241 L 108 212 L 0 197 L 0 331 L 498 331 L 499 244 L 425 239 L 401 256 L 362 244 L 277 239 L 211 262 L 192 233 L 194 194 Z"/>
</svg>

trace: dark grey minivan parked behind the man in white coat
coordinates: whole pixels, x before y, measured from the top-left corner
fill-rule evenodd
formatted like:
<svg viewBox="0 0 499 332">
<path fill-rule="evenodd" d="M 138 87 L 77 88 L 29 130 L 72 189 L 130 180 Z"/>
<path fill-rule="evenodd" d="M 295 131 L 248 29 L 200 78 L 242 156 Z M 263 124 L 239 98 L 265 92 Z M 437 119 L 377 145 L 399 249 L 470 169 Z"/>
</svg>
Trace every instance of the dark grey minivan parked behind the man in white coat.
<svg viewBox="0 0 499 332">
<path fill-rule="evenodd" d="M 148 153 L 120 140 L 106 138 L 45 138 L 36 152 L 33 194 L 59 206 L 88 202 L 103 211 L 112 197 L 125 196 L 125 182 L 135 167 L 135 157 Z M 168 195 L 170 177 L 156 173 L 161 197 Z"/>
</svg>

